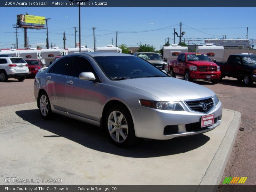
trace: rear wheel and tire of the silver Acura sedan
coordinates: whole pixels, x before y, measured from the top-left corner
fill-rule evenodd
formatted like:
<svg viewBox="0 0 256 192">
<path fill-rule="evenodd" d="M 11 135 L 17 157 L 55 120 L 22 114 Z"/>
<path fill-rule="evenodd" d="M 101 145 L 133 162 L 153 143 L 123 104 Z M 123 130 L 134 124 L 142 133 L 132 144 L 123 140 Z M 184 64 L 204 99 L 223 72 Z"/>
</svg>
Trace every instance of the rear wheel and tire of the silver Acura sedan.
<svg viewBox="0 0 256 192">
<path fill-rule="evenodd" d="M 40 115 L 44 119 L 51 119 L 53 115 L 52 115 L 51 103 L 48 98 L 48 95 L 45 92 L 41 92 L 37 102 L 39 102 L 38 106 L 39 106 Z"/>
</svg>

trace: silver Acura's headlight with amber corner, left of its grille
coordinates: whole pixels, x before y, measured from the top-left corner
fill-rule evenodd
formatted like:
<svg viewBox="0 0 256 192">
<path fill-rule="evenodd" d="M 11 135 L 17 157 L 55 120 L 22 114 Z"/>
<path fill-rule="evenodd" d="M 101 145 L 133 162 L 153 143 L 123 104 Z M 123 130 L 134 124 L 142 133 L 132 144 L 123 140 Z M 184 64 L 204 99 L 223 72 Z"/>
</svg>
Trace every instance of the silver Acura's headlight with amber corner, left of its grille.
<svg viewBox="0 0 256 192">
<path fill-rule="evenodd" d="M 140 99 L 140 105 L 154 109 L 184 111 L 179 102 L 172 101 L 151 101 Z"/>
</svg>

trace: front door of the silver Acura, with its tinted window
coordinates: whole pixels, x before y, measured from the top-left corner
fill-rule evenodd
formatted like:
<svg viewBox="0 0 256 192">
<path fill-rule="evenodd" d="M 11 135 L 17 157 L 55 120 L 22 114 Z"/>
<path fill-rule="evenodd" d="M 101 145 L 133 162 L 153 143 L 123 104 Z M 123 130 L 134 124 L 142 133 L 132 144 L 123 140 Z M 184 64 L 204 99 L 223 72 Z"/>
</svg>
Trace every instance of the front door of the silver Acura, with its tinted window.
<svg viewBox="0 0 256 192">
<path fill-rule="evenodd" d="M 99 79 L 89 60 L 75 56 L 70 75 L 66 79 L 66 110 L 71 114 L 100 121 L 101 83 L 79 79 L 82 72 L 92 72 Z"/>
</svg>

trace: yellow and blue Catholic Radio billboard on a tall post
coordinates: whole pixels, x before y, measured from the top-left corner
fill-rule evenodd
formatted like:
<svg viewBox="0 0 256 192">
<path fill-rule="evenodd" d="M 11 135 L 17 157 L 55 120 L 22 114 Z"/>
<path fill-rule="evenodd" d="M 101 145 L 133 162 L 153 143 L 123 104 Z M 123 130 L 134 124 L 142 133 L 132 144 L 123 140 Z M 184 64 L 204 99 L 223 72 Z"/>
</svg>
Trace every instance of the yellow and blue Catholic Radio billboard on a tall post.
<svg viewBox="0 0 256 192">
<path fill-rule="evenodd" d="M 45 17 L 35 15 L 17 15 L 17 25 L 22 28 L 44 28 Z"/>
</svg>

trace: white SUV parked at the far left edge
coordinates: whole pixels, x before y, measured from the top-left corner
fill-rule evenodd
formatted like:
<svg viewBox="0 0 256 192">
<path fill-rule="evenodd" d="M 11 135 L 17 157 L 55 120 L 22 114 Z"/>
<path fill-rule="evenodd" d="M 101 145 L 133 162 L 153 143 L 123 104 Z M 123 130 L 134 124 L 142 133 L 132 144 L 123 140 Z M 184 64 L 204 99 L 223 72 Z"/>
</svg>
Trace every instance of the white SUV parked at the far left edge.
<svg viewBox="0 0 256 192">
<path fill-rule="evenodd" d="M 21 57 L 0 57 L 0 82 L 8 78 L 24 81 L 28 75 L 28 64 Z"/>
</svg>

